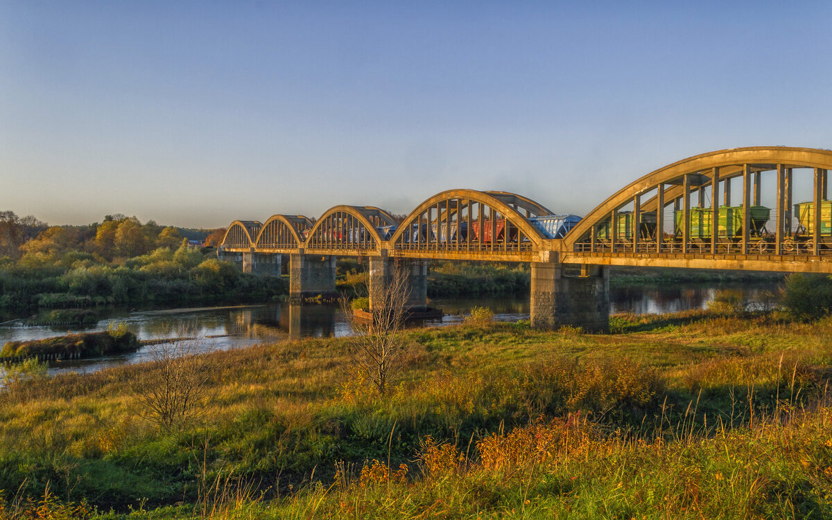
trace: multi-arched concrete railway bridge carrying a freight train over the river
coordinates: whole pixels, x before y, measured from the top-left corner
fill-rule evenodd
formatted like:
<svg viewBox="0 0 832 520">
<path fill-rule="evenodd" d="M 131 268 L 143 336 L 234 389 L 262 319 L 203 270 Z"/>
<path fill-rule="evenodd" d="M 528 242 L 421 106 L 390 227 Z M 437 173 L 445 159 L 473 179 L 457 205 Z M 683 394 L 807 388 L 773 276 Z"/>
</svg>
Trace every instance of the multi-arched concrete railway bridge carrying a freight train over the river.
<svg viewBox="0 0 832 520">
<path fill-rule="evenodd" d="M 335 258 L 367 258 L 370 292 L 403 270 L 414 308 L 426 305 L 430 260 L 529 262 L 532 326 L 597 330 L 608 326 L 608 266 L 832 273 L 830 169 L 830 150 L 720 150 L 656 169 L 583 218 L 519 194 L 451 189 L 401 222 L 346 205 L 314 222 L 237 220 L 219 252 L 249 272 L 279 274 L 289 258 L 295 299 L 334 292 Z"/>
</svg>

